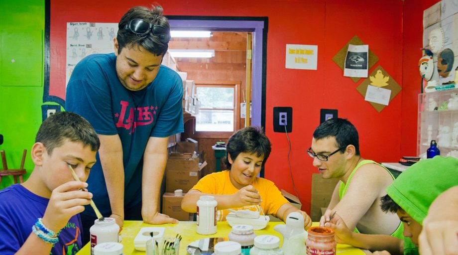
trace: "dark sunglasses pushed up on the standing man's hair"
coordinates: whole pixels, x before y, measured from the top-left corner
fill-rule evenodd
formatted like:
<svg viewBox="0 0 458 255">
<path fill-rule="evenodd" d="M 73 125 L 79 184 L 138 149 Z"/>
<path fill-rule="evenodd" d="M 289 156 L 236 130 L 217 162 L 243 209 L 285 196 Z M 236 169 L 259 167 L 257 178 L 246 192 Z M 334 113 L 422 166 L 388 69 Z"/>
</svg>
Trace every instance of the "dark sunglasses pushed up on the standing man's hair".
<svg viewBox="0 0 458 255">
<path fill-rule="evenodd" d="M 170 30 L 161 26 L 153 25 L 146 22 L 143 19 L 135 18 L 129 21 L 124 27 L 127 31 L 138 34 L 140 36 L 147 35 L 149 31 L 159 38 L 162 43 L 168 43 L 170 41 Z"/>
</svg>

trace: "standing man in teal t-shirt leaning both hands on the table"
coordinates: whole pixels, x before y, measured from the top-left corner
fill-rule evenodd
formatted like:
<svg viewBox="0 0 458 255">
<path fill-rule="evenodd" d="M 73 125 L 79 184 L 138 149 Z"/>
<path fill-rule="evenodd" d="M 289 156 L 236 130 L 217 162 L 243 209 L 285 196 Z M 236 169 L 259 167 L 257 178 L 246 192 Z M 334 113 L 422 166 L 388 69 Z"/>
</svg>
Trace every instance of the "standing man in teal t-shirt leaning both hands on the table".
<svg viewBox="0 0 458 255">
<path fill-rule="evenodd" d="M 101 140 L 88 179 L 94 202 L 120 227 L 178 222 L 158 213 L 168 136 L 183 132 L 183 83 L 161 66 L 169 40 L 161 6 L 133 7 L 119 21 L 114 53 L 84 58 L 68 83 L 66 110 L 86 118 Z M 96 219 L 90 207 L 81 217 L 84 230 Z"/>
</svg>

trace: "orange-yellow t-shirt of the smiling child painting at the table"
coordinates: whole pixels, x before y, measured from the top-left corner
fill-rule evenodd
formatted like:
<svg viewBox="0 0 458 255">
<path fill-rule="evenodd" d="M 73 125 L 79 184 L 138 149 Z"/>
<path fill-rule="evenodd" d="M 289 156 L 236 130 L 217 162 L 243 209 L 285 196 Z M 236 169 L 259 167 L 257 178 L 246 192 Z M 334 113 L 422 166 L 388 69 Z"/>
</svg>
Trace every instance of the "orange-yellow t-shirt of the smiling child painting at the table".
<svg viewBox="0 0 458 255">
<path fill-rule="evenodd" d="M 254 188 L 259 192 L 261 196 L 262 210 L 265 215 L 273 215 L 277 213 L 278 209 L 288 203 L 285 197 L 278 190 L 277 186 L 272 181 L 264 178 L 256 177 L 254 182 L 251 183 Z M 238 191 L 237 188 L 232 185 L 229 179 L 229 170 L 216 172 L 204 176 L 199 182 L 194 185 L 192 189 L 198 190 L 202 193 L 213 194 L 213 195 L 231 195 Z M 240 208 L 232 208 L 233 210 L 251 210 L 259 211 L 262 215 L 261 208 L 259 206 L 244 206 Z M 229 214 L 228 210 L 218 210 L 217 221 L 225 221 L 226 215 Z"/>
</svg>

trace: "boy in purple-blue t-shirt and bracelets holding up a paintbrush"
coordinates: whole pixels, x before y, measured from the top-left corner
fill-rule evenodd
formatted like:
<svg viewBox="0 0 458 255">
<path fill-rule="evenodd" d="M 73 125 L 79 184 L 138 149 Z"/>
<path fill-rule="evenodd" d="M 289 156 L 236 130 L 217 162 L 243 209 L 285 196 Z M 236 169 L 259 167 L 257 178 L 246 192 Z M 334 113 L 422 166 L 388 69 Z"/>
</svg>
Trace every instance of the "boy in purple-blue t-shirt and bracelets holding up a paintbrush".
<svg viewBox="0 0 458 255">
<path fill-rule="evenodd" d="M 79 213 L 92 194 L 80 189 L 88 186 L 99 146 L 94 128 L 77 114 L 56 113 L 41 124 L 30 177 L 0 190 L 1 255 L 75 255 L 83 247 Z M 69 165 L 81 181 L 73 181 Z"/>
</svg>

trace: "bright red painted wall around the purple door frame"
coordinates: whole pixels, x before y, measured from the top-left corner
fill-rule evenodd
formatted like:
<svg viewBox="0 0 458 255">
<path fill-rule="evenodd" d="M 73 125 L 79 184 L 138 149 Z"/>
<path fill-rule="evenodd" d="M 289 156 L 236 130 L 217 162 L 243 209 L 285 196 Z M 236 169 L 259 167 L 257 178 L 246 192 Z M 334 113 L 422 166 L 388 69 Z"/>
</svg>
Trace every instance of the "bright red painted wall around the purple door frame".
<svg viewBox="0 0 458 255">
<path fill-rule="evenodd" d="M 65 83 L 53 80 L 53 74 L 65 72 L 65 66 L 58 64 L 56 56 L 65 56 L 67 21 L 118 22 L 129 7 L 149 2 L 52 0 L 51 83 Z M 417 49 L 421 46 L 423 9 L 432 4 L 425 3 L 426 7 L 411 6 L 415 2 L 159 1 L 166 15 L 268 17 L 266 132 L 273 144 L 273 151 L 267 161 L 265 176 L 279 188 L 294 193 L 287 164 L 288 141 L 284 133 L 274 133 L 272 127 L 273 107 L 293 107 L 293 132 L 289 134 L 292 143 L 290 159 L 303 210 L 307 212 L 310 212 L 311 174 L 317 171 L 306 149 L 310 147 L 313 130 L 319 125 L 320 109 L 338 109 L 339 117 L 348 118 L 356 126 L 361 154 L 365 158 L 394 162 L 400 155 L 415 154 L 416 97 L 420 83 L 417 62 L 421 56 Z M 403 13 L 411 20 L 403 19 Z M 409 24 L 409 31 L 404 35 L 403 22 L 404 27 Z M 343 71 L 332 61 L 333 56 L 354 35 L 369 44 L 369 49 L 378 56 L 379 61 L 372 69 L 381 65 L 403 88 L 381 113 L 365 102 L 356 91 L 362 79 L 354 83 L 343 77 Z M 286 44 L 318 45 L 318 70 L 285 69 Z M 409 54 L 405 54 L 406 51 Z M 403 52 L 408 62 L 403 61 Z M 404 98 L 405 94 L 408 97 Z"/>
</svg>

